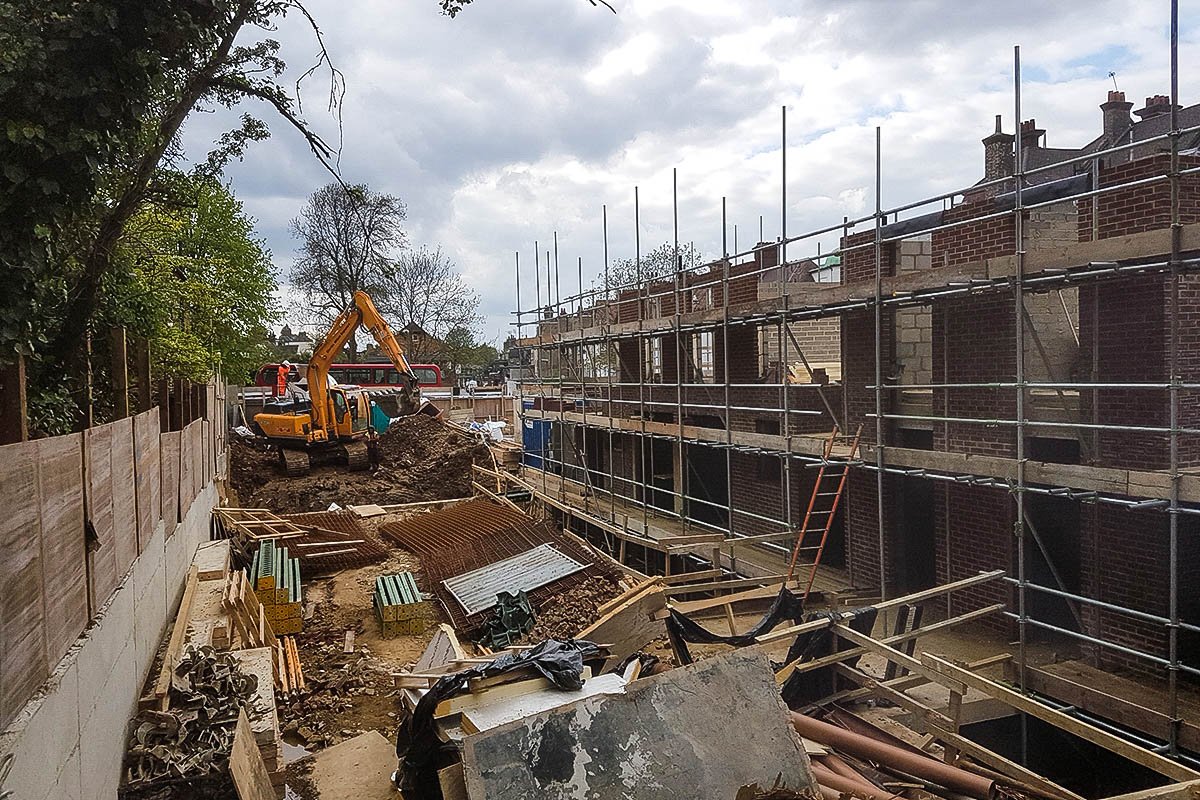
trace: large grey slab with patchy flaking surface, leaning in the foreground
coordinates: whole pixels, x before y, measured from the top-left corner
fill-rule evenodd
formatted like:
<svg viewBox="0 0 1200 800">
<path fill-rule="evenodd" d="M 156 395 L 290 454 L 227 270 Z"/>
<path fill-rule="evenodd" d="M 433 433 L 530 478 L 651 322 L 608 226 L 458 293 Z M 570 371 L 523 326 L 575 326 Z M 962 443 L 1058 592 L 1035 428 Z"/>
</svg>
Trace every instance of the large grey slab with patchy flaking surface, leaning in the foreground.
<svg viewBox="0 0 1200 800">
<path fill-rule="evenodd" d="M 472 800 L 732 798 L 814 789 L 767 656 L 736 650 L 463 740 Z"/>
</svg>

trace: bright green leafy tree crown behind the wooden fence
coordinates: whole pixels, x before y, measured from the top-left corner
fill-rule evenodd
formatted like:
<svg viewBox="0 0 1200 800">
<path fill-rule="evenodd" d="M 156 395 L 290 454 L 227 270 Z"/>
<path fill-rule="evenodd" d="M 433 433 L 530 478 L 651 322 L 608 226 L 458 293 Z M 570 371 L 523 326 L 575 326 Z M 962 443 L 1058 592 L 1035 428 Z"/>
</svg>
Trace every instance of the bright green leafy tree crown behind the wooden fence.
<svg viewBox="0 0 1200 800">
<path fill-rule="evenodd" d="M 150 339 L 158 373 L 241 378 L 270 359 L 270 253 L 227 188 L 206 178 L 186 186 L 186 206 L 146 205 L 130 221 L 103 317 Z"/>
</svg>

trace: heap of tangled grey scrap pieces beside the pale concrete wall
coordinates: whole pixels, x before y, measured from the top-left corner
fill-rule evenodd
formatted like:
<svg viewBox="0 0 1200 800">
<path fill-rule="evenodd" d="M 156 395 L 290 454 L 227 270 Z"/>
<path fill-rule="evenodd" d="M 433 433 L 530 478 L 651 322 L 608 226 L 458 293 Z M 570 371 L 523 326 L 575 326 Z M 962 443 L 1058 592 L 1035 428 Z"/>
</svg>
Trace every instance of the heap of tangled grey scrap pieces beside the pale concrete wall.
<svg viewBox="0 0 1200 800">
<path fill-rule="evenodd" d="M 169 710 L 143 710 L 133 720 L 121 796 L 233 796 L 234 729 L 257 688 L 258 679 L 240 672 L 230 654 L 188 648 L 172 675 Z"/>
</svg>

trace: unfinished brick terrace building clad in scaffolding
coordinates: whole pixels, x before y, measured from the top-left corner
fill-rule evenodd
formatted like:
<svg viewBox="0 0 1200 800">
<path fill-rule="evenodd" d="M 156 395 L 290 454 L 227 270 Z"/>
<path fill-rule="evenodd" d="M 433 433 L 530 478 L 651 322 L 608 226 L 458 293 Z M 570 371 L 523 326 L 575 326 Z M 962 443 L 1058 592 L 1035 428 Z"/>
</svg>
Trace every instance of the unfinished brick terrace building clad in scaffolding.
<svg viewBox="0 0 1200 800">
<path fill-rule="evenodd" d="M 997 116 L 937 197 L 883 207 L 877 138 L 870 215 L 552 301 L 527 278 L 524 488 L 725 587 L 1002 570 L 946 615 L 1013 643 L 1022 691 L 1200 765 L 1200 106 L 1171 84 L 1109 92 L 1078 149 Z"/>
</svg>

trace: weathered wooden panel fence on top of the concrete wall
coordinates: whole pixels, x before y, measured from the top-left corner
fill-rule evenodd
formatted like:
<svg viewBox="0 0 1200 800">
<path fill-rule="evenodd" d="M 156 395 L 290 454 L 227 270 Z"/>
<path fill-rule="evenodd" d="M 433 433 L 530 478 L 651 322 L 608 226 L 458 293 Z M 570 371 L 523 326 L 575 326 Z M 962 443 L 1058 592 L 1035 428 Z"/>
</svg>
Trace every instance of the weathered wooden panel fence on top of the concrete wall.
<svg viewBox="0 0 1200 800">
<path fill-rule="evenodd" d="M 161 432 L 158 408 L 0 446 L 0 730 L 49 678 L 146 548 L 217 474 L 224 390 Z"/>
</svg>

